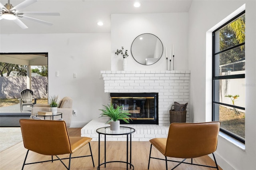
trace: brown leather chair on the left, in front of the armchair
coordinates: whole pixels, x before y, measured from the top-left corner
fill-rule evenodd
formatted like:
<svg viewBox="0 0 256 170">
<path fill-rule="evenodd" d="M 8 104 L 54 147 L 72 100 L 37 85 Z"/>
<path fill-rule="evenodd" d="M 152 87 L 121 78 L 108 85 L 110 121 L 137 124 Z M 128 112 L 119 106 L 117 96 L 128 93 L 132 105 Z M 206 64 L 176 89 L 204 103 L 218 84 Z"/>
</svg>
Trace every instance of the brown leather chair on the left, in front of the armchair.
<svg viewBox="0 0 256 170">
<path fill-rule="evenodd" d="M 38 154 L 51 155 L 51 160 L 41 161 L 49 162 L 54 160 L 69 159 L 68 167 L 62 162 L 62 164 L 69 170 L 71 158 L 81 158 L 86 156 L 92 157 L 92 150 L 90 141 L 92 138 L 88 137 L 70 137 L 65 121 L 50 121 L 50 120 L 32 120 L 32 119 L 20 119 L 20 128 L 22 132 L 22 138 L 24 147 L 26 149 L 36 152 Z M 71 157 L 72 153 L 76 152 L 82 146 L 89 143 L 90 155 Z M 35 164 L 41 162 L 32 162 L 26 164 L 26 158 L 28 151 L 22 166 L 22 169 L 27 164 Z M 57 155 L 69 154 L 69 158 L 59 158 Z M 55 155 L 58 159 L 53 159 Z M 92 157 L 92 164 L 94 167 L 94 161 Z"/>
</svg>

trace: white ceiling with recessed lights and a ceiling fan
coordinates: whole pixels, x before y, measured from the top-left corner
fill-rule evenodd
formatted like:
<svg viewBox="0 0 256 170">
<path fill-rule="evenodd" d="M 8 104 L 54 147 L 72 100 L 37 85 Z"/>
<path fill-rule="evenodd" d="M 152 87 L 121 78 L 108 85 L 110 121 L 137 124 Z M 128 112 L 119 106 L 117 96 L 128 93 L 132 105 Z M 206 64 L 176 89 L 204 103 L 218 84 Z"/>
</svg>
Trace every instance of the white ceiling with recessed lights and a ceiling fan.
<svg viewBox="0 0 256 170">
<path fill-rule="evenodd" d="M 16 6 L 24 0 L 10 0 Z M 8 0 L 0 0 L 5 5 Z M 27 29 L 21 29 L 11 20 L 0 20 L 0 34 L 51 34 L 51 33 L 105 33 L 110 32 L 111 14 L 188 12 L 192 0 L 38 0 L 20 12 L 59 12 L 60 16 L 32 16 L 51 22 L 46 26 L 20 19 Z M 102 21 L 103 26 L 97 22 Z M 125 21 L 120 21 L 120 24 Z"/>
</svg>

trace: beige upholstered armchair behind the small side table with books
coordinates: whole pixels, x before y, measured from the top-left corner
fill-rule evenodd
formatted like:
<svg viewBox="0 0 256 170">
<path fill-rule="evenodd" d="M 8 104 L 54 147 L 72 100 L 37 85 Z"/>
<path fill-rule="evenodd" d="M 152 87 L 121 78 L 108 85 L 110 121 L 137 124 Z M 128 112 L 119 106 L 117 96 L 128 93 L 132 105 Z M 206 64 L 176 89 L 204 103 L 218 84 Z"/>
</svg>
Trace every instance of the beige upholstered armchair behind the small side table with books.
<svg viewBox="0 0 256 170">
<path fill-rule="evenodd" d="M 67 127 L 70 127 L 72 119 L 72 104 L 73 100 L 70 97 L 64 97 L 58 106 L 57 111 L 62 113 L 62 119 L 66 122 Z M 50 105 L 48 104 L 35 104 L 32 108 L 31 115 L 36 115 L 38 111 L 50 111 Z M 46 119 L 51 119 L 52 117 L 46 117 Z"/>
</svg>

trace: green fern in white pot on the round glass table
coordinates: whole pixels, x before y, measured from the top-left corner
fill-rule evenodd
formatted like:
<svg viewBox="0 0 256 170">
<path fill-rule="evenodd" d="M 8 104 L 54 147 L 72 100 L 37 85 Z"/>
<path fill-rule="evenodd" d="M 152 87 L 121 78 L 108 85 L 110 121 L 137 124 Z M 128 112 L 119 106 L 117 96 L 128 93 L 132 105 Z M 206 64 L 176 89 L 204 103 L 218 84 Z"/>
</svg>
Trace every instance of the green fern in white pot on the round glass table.
<svg viewBox="0 0 256 170">
<path fill-rule="evenodd" d="M 110 130 L 119 130 L 120 129 L 120 121 L 123 120 L 126 123 L 129 123 L 130 120 L 130 113 L 128 111 L 123 110 L 122 106 L 116 106 L 114 107 L 114 104 L 112 105 L 103 105 L 105 109 L 99 109 L 102 111 L 100 114 L 100 117 L 109 117 L 110 120 L 107 121 L 107 123 L 110 123 Z"/>
</svg>

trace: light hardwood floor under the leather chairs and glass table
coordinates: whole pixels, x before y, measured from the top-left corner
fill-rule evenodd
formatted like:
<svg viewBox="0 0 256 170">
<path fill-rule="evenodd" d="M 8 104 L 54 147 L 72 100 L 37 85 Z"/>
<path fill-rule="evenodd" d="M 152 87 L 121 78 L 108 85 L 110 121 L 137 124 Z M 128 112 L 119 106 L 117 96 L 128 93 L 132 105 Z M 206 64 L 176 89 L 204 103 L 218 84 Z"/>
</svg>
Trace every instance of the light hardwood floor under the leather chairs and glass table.
<svg viewBox="0 0 256 170">
<path fill-rule="evenodd" d="M 81 128 L 68 128 L 70 136 L 80 136 Z M 95 167 L 92 165 L 92 159 L 90 157 L 76 158 L 71 160 L 71 170 L 96 170 L 98 166 L 98 141 L 91 141 L 92 154 L 94 158 Z M 121 160 L 126 161 L 126 142 L 121 141 L 108 141 L 106 144 L 107 148 L 107 161 L 111 160 Z M 40 146 L 38 146 L 40 147 Z M 104 161 L 104 142 L 102 142 L 101 147 L 101 163 Z M 23 142 L 20 142 L 2 152 L 0 152 L 0 170 L 20 170 L 24 158 L 26 156 L 26 149 L 23 146 Z M 150 151 L 150 142 L 132 142 L 132 164 L 134 165 L 134 170 L 147 170 L 148 168 L 148 156 Z M 78 150 L 73 154 L 73 156 L 90 154 L 89 145 L 87 144 L 82 149 Z M 158 150 L 152 147 L 152 156 L 164 158 Z M 61 158 L 68 157 L 68 155 L 60 156 Z M 37 154 L 35 152 L 30 152 L 28 154 L 28 162 L 49 160 L 50 156 L 44 156 Z M 178 160 L 178 159 L 176 159 Z M 218 160 L 217 160 L 218 161 Z M 64 160 L 68 164 L 68 160 Z M 214 161 L 209 156 L 203 156 L 200 158 L 193 159 L 194 163 L 197 164 L 207 164 L 214 166 Z M 217 162 L 218 163 L 218 162 Z M 168 162 L 168 168 L 171 169 L 177 163 Z M 124 163 L 110 163 L 107 164 L 107 168 L 104 165 L 100 166 L 101 170 L 125 170 L 126 164 Z M 150 160 L 150 170 L 165 170 L 165 161 L 163 160 Z M 181 164 L 176 168 L 176 170 L 213 170 L 214 168 L 206 168 L 201 166 L 192 166 L 187 164 Z M 39 164 L 26 165 L 24 170 L 65 170 L 65 167 L 59 162 L 45 162 Z M 222 170 L 220 168 L 220 170 Z"/>
</svg>

